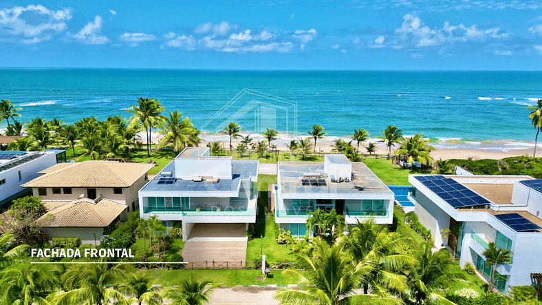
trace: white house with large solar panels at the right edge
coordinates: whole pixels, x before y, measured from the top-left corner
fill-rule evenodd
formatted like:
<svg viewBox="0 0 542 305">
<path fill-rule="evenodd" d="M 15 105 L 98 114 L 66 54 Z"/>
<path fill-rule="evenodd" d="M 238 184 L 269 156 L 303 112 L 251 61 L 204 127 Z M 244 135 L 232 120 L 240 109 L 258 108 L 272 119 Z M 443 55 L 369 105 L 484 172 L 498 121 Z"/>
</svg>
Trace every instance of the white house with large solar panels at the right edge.
<svg viewBox="0 0 542 305">
<path fill-rule="evenodd" d="M 488 243 L 512 251 L 512 263 L 497 266 L 497 288 L 530 285 L 542 273 L 542 180 L 530 176 L 410 175 L 415 213 L 433 232 L 435 246 L 449 246 L 459 264 L 472 263 L 490 278 L 482 253 Z M 450 229 L 442 238 L 442 229 Z"/>
</svg>

